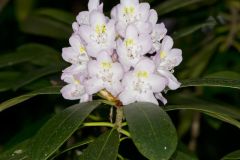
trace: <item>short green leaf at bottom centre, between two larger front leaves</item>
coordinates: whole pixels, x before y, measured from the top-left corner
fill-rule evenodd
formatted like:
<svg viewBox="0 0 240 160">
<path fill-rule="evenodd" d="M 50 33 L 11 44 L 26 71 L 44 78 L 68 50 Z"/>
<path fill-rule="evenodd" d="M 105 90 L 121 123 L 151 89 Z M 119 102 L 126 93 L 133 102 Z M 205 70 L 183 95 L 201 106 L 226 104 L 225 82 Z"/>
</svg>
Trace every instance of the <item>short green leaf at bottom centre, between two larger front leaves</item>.
<svg viewBox="0 0 240 160">
<path fill-rule="evenodd" d="M 119 142 L 118 132 L 115 129 L 109 130 L 88 146 L 80 160 L 115 160 Z"/>
</svg>

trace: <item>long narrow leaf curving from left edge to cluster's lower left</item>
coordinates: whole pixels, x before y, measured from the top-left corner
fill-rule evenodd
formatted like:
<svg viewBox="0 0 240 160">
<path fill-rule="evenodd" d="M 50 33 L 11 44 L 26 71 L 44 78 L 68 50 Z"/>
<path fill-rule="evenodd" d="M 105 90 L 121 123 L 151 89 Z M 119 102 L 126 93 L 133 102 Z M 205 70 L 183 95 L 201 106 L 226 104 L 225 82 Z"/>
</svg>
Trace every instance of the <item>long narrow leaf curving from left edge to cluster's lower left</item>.
<svg viewBox="0 0 240 160">
<path fill-rule="evenodd" d="M 15 98 L 12 98 L 10 100 L 7 100 L 5 102 L 2 102 L 0 104 L 0 112 L 5 110 L 5 109 L 8 109 L 9 107 L 12 107 L 16 104 L 19 104 L 19 103 L 22 103 L 32 97 L 35 97 L 37 95 L 44 95 L 44 94 L 60 94 L 60 88 L 59 86 L 54 86 L 54 87 L 47 87 L 47 88 L 43 88 L 43 89 L 40 89 L 40 90 L 37 90 L 37 91 L 33 91 L 31 93 L 28 93 L 28 94 L 24 94 L 24 95 L 21 95 L 19 97 L 15 97 Z"/>
</svg>

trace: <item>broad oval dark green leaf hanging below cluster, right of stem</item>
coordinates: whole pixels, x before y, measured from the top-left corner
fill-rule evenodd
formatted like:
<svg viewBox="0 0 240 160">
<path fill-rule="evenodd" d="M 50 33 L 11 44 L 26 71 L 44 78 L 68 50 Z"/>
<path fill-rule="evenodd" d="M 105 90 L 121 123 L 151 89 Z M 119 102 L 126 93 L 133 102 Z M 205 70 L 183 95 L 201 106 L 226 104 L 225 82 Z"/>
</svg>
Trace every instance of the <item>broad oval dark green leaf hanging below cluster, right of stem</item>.
<svg viewBox="0 0 240 160">
<path fill-rule="evenodd" d="M 132 103 L 124 113 L 134 144 L 150 160 L 167 160 L 177 147 L 177 134 L 169 116 L 152 103 Z"/>
</svg>

